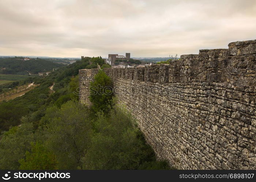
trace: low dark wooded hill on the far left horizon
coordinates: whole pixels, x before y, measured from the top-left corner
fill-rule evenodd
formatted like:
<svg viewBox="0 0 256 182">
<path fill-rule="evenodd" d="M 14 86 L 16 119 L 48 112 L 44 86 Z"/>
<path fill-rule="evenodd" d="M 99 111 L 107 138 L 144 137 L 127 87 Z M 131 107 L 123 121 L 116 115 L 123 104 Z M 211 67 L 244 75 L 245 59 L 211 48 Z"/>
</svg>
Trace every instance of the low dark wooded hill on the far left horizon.
<svg viewBox="0 0 256 182">
<path fill-rule="evenodd" d="M 38 72 L 51 71 L 64 64 L 53 63 L 52 61 L 35 58 L 25 60 L 23 57 L 0 58 L 0 74 L 38 74 Z"/>
</svg>

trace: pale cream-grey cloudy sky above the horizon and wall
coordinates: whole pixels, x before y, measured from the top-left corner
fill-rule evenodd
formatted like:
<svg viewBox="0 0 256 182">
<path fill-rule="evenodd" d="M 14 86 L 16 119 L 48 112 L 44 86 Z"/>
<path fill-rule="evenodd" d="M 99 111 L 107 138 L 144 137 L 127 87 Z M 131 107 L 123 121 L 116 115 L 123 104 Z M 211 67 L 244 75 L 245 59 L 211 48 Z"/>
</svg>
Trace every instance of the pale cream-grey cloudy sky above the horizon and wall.
<svg viewBox="0 0 256 182">
<path fill-rule="evenodd" d="M 0 0 L 0 55 L 168 57 L 252 39 L 255 0 Z"/>
</svg>

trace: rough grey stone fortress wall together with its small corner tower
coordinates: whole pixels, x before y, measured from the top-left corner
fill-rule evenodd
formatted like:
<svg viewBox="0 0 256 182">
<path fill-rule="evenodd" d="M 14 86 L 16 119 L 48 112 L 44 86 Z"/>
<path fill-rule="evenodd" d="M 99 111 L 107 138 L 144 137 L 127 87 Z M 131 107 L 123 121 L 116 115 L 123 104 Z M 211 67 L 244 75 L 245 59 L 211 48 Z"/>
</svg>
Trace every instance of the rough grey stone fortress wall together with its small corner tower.
<svg viewBox="0 0 256 182">
<path fill-rule="evenodd" d="M 256 40 L 170 65 L 106 68 L 159 159 L 178 169 L 256 169 Z M 80 70 L 88 103 L 97 70 Z"/>
</svg>

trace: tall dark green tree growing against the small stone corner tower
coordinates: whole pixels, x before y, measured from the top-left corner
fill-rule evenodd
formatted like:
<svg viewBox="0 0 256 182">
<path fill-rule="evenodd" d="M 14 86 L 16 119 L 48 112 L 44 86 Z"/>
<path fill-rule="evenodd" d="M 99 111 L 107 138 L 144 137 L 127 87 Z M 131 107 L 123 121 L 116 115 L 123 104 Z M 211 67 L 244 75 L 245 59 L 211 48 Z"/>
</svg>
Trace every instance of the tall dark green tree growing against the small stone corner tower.
<svg viewBox="0 0 256 182">
<path fill-rule="evenodd" d="M 90 83 L 89 99 L 95 112 L 108 111 L 113 97 L 112 83 L 108 75 L 102 70 L 94 76 L 94 82 Z"/>
</svg>

